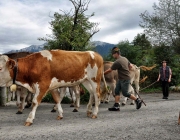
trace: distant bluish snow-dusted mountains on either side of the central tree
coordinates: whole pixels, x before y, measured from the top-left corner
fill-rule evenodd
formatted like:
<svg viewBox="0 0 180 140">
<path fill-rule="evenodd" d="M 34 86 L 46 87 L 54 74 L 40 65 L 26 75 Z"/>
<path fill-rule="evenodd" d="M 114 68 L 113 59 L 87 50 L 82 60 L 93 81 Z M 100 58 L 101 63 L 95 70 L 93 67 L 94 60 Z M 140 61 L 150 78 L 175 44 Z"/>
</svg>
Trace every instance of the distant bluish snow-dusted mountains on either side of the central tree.
<svg viewBox="0 0 180 140">
<path fill-rule="evenodd" d="M 115 46 L 114 44 L 101 42 L 101 41 L 93 41 L 92 44 L 95 46 L 94 51 L 98 52 L 102 56 L 107 56 L 110 50 Z M 20 50 L 11 50 L 5 54 L 16 53 L 16 52 L 39 52 L 43 50 L 45 44 L 42 45 L 31 45 L 29 47 L 20 49 Z"/>
</svg>

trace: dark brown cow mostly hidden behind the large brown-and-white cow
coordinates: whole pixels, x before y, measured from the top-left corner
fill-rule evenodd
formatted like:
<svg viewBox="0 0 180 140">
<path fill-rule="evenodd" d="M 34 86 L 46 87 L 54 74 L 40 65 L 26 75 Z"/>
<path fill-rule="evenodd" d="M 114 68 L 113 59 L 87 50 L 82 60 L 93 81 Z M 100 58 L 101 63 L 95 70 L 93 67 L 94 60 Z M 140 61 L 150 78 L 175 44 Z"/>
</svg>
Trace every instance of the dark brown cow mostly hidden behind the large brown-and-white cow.
<svg viewBox="0 0 180 140">
<path fill-rule="evenodd" d="M 17 61 L 18 58 L 22 58 L 22 57 L 25 57 L 25 56 L 30 55 L 30 54 L 32 54 L 32 53 L 30 53 L 30 52 L 16 52 L 16 53 L 8 53 L 6 55 L 9 58 Z M 58 91 L 60 94 L 60 91 L 65 92 L 66 87 L 63 87 L 63 88 L 64 89 L 61 89 L 61 90 L 60 89 L 51 90 L 51 93 L 53 94 L 55 92 L 55 94 L 56 94 L 56 92 Z M 31 106 L 33 94 L 31 92 L 29 92 L 26 88 L 18 85 L 15 92 L 11 92 L 9 87 L 7 89 L 8 89 L 8 94 L 7 94 L 8 95 L 8 101 L 10 101 L 11 99 L 15 100 L 15 97 L 17 99 L 16 105 L 18 107 L 18 111 L 16 112 L 16 114 L 22 114 L 24 108 L 29 108 Z M 70 93 L 71 99 L 72 99 L 72 103 L 71 103 L 70 107 L 75 107 L 73 112 L 77 112 L 78 108 L 80 106 L 79 105 L 80 99 L 78 99 L 79 98 L 78 94 L 79 94 L 79 92 L 82 93 L 83 89 L 79 85 L 73 86 L 73 87 L 68 87 L 68 89 L 69 89 L 69 93 Z M 62 94 L 64 94 L 64 93 L 62 93 Z M 56 110 L 53 109 L 52 112 L 54 112 L 54 111 L 56 111 Z"/>
</svg>

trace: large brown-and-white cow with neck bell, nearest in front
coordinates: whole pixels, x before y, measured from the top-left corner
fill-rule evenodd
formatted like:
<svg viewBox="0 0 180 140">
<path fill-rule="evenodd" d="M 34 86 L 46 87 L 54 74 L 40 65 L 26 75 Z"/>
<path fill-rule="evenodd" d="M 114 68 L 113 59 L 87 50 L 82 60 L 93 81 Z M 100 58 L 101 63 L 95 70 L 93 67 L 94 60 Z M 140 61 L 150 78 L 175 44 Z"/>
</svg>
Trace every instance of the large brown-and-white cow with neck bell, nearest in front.
<svg viewBox="0 0 180 140">
<path fill-rule="evenodd" d="M 16 74 L 14 72 L 15 66 L 17 66 Z M 87 116 L 97 118 L 102 76 L 104 77 L 103 58 L 93 51 L 43 50 L 17 59 L 17 63 L 6 55 L 0 56 L 0 86 L 10 86 L 15 78 L 16 84 L 35 94 L 32 101 L 32 111 L 25 126 L 33 123 L 36 109 L 48 91 L 80 83 L 90 93 Z M 53 97 L 58 108 L 57 119 L 62 119 L 59 98 Z M 95 99 L 95 106 L 92 111 L 93 99 Z"/>
</svg>

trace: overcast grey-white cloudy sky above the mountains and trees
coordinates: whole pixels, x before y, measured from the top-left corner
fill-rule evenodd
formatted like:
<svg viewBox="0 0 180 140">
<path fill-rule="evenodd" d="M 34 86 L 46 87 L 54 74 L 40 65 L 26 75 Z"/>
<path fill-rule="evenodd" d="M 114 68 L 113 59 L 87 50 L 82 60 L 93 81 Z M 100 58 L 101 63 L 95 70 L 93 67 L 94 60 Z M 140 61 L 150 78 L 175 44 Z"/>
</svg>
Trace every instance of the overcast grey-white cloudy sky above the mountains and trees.
<svg viewBox="0 0 180 140">
<path fill-rule="evenodd" d="M 138 33 L 140 14 L 153 12 L 158 0 L 91 0 L 87 15 L 95 15 L 91 22 L 99 23 L 100 31 L 92 41 L 117 44 L 130 42 Z M 55 12 L 73 10 L 69 0 L 1 0 L 0 1 L 0 54 L 30 45 L 42 45 L 38 38 L 51 34 L 49 22 Z"/>
</svg>

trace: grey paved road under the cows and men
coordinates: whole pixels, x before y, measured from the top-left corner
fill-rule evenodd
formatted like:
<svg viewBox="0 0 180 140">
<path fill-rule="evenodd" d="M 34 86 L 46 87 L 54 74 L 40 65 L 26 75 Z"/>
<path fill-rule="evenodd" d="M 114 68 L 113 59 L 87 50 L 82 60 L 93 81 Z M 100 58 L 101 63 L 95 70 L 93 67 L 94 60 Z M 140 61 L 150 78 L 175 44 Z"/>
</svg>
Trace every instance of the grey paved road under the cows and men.
<svg viewBox="0 0 180 140">
<path fill-rule="evenodd" d="M 11 102 L 0 107 L 0 140 L 179 140 L 180 93 L 170 94 L 168 100 L 161 96 L 141 94 L 147 106 L 140 110 L 128 103 L 120 112 L 109 112 L 114 102 L 101 104 L 97 119 L 86 117 L 86 105 L 74 113 L 63 104 L 64 118 L 58 121 L 57 113 L 50 112 L 53 104 L 41 103 L 30 127 L 23 126 L 30 109 L 17 115 Z"/>
</svg>

